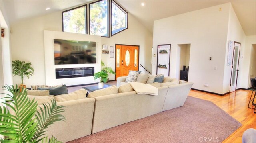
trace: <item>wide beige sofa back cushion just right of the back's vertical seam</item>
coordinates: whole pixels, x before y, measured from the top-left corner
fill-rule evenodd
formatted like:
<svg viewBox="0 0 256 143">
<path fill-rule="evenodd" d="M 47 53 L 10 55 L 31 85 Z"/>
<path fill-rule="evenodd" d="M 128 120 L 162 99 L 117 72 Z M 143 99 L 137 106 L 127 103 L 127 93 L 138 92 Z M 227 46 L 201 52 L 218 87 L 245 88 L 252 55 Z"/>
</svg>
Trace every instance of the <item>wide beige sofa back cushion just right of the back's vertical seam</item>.
<svg viewBox="0 0 256 143">
<path fill-rule="evenodd" d="M 104 95 L 109 95 L 109 94 L 116 94 L 118 93 L 118 87 L 116 86 L 110 86 L 104 89 L 96 90 L 94 92 L 90 92 L 88 94 L 88 98 L 92 97 L 98 97 L 98 96 L 104 96 Z"/>
</svg>

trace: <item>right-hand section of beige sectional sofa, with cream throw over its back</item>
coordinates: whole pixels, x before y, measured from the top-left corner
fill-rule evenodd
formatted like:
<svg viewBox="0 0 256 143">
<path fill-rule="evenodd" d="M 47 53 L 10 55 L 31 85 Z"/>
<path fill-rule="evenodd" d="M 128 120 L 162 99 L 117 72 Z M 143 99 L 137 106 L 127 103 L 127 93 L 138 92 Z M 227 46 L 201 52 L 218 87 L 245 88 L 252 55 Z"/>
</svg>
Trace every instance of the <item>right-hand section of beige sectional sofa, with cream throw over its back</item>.
<svg viewBox="0 0 256 143">
<path fill-rule="evenodd" d="M 117 86 L 120 86 L 125 78 L 118 78 Z M 158 96 L 136 94 L 135 91 L 103 96 L 91 92 L 88 98 L 95 99 L 92 133 L 183 106 L 192 85 L 191 82 L 182 82 L 157 87 Z"/>
</svg>

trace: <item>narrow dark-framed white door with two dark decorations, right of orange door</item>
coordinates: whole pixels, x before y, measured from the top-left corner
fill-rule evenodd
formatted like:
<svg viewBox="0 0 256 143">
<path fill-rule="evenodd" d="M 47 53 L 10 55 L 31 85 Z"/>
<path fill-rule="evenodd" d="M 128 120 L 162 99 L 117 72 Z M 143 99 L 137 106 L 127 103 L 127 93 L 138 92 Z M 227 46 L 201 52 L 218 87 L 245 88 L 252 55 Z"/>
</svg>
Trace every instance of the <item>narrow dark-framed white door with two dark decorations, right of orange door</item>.
<svg viewBox="0 0 256 143">
<path fill-rule="evenodd" d="M 156 74 L 170 76 L 171 44 L 157 45 Z"/>
</svg>

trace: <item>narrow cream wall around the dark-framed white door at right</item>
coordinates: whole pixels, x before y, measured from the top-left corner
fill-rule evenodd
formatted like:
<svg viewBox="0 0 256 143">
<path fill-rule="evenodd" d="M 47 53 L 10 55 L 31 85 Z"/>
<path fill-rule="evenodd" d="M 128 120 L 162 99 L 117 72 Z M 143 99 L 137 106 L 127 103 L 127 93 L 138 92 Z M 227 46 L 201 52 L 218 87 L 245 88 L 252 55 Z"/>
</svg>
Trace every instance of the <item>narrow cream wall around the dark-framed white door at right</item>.
<svg viewBox="0 0 256 143">
<path fill-rule="evenodd" d="M 241 43 L 239 68 L 238 68 L 239 72 L 238 72 L 237 86 L 236 86 L 236 88 L 238 89 L 238 88 L 241 88 L 241 81 L 243 80 L 241 78 L 241 75 L 243 74 L 242 66 L 244 64 L 243 50 L 245 46 L 245 34 L 231 4 L 230 4 L 230 12 L 229 12 L 229 20 L 228 20 L 228 36 L 226 41 L 226 52 L 225 52 L 225 63 L 224 63 L 224 76 L 223 76 L 224 80 L 223 80 L 223 91 L 222 91 L 223 93 L 227 93 L 230 91 L 230 78 L 231 78 L 232 65 L 227 66 L 229 40 Z"/>
</svg>

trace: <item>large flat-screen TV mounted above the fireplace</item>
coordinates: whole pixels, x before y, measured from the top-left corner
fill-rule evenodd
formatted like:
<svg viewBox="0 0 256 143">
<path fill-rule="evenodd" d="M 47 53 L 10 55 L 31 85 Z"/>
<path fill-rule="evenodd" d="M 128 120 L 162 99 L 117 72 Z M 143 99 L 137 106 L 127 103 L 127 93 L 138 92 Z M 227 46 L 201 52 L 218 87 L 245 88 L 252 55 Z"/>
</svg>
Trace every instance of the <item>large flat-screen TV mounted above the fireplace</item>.
<svg viewBox="0 0 256 143">
<path fill-rule="evenodd" d="M 54 39 L 55 65 L 96 63 L 96 42 Z"/>
</svg>

